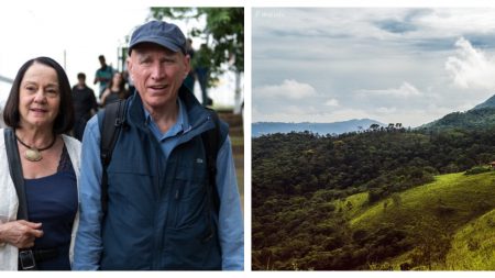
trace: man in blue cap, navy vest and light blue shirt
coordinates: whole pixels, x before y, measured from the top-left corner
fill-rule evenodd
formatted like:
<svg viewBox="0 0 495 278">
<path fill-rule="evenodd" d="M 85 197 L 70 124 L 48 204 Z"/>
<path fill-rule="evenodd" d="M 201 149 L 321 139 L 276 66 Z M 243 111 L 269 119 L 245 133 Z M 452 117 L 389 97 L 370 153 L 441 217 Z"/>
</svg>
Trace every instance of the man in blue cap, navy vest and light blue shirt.
<svg viewBox="0 0 495 278">
<path fill-rule="evenodd" d="M 74 269 L 243 269 L 244 231 L 227 124 L 216 124 L 183 86 L 186 38 L 174 24 L 138 27 L 128 69 L 136 91 L 107 168 L 101 131 L 85 131 Z M 219 129 L 215 182 L 201 134 Z M 215 184 L 215 188 L 209 188 Z M 218 203 L 218 204 L 217 204 Z"/>
</svg>

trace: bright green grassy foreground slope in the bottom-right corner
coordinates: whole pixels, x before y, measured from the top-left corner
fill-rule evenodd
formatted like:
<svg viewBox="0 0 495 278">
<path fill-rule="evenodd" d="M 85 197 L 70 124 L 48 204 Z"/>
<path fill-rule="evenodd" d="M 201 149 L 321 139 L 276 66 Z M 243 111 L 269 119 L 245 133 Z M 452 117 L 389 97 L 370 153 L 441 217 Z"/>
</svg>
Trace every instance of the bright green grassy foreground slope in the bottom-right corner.
<svg viewBox="0 0 495 278">
<path fill-rule="evenodd" d="M 495 210 L 470 222 L 452 241 L 447 254 L 449 269 L 495 269 Z"/>
</svg>

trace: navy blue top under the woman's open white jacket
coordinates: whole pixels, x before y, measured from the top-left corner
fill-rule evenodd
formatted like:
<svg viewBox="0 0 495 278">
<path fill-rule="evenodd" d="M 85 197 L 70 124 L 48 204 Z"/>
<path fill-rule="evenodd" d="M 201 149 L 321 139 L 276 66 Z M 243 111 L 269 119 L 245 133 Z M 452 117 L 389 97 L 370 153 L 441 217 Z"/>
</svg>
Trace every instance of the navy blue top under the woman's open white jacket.
<svg viewBox="0 0 495 278">
<path fill-rule="evenodd" d="M 43 163 L 43 162 L 41 162 Z M 69 246 L 77 212 L 77 179 L 64 146 L 57 173 L 37 179 L 24 179 L 28 216 L 42 223 L 43 236 L 34 241 L 37 249 L 58 249 L 54 258 L 36 260 L 40 270 L 70 270 Z"/>
</svg>

